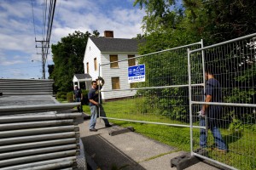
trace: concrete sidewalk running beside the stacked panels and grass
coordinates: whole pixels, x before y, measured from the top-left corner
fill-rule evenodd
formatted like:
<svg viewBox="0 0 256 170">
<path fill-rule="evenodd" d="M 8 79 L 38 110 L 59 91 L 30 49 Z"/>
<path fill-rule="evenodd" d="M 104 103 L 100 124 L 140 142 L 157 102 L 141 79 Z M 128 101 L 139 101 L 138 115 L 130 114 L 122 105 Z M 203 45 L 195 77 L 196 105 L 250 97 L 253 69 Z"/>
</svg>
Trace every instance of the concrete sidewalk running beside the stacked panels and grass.
<svg viewBox="0 0 256 170">
<path fill-rule="evenodd" d="M 136 170 L 176 170 L 171 167 L 171 160 L 183 155 L 183 151 L 160 144 L 135 132 L 109 135 L 114 129 L 122 127 L 104 126 L 103 121 L 97 120 L 97 132 L 89 131 L 89 119 L 80 120 L 80 137 L 84 144 L 84 150 L 92 169 L 136 169 Z M 217 170 L 205 162 L 198 162 L 186 168 L 187 170 Z"/>
</svg>

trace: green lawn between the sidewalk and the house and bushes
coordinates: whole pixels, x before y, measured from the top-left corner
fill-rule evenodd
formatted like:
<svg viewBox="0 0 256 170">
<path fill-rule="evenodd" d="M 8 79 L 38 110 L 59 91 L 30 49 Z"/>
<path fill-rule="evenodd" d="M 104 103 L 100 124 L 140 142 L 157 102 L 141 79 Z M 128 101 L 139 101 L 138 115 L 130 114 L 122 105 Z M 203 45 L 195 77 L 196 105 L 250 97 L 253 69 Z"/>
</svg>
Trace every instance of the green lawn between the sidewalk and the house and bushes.
<svg viewBox="0 0 256 170">
<path fill-rule="evenodd" d="M 154 114 L 154 112 L 141 114 L 137 111 L 138 105 L 132 99 L 124 99 L 103 104 L 108 117 L 131 119 L 144 122 L 166 122 L 183 124 L 183 122 L 173 121 L 166 116 Z M 90 114 L 90 107 L 83 106 L 84 112 Z M 173 127 L 166 125 L 148 124 L 140 122 L 127 122 L 109 119 L 116 125 L 122 127 L 134 127 L 137 133 L 141 133 L 150 139 L 155 139 L 163 144 L 175 147 L 177 150 L 190 150 L 189 127 Z M 220 129 L 223 138 L 229 146 L 229 152 L 226 155 L 220 155 L 216 151 L 209 150 L 209 157 L 224 162 L 231 167 L 238 169 L 256 168 L 256 133 L 253 130 L 243 130 L 238 132 Z M 193 129 L 193 140 L 196 149 L 199 147 L 199 129 Z M 212 133 L 209 131 L 208 144 L 213 144 Z"/>
</svg>

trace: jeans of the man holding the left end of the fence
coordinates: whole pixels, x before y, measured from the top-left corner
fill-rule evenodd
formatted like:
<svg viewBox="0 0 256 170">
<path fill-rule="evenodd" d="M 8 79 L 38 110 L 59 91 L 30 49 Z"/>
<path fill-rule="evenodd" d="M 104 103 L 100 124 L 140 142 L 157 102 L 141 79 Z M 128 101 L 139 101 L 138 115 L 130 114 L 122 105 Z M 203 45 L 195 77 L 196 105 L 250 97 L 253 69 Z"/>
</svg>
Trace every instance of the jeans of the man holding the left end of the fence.
<svg viewBox="0 0 256 170">
<path fill-rule="evenodd" d="M 90 106 L 90 124 L 89 124 L 90 129 L 95 128 L 97 115 L 99 112 L 99 107 L 101 110 L 101 116 L 107 117 L 102 105 L 101 106 L 96 106 L 96 105 Z M 103 121 L 104 121 L 105 125 L 109 124 L 108 119 L 103 119 Z"/>
</svg>

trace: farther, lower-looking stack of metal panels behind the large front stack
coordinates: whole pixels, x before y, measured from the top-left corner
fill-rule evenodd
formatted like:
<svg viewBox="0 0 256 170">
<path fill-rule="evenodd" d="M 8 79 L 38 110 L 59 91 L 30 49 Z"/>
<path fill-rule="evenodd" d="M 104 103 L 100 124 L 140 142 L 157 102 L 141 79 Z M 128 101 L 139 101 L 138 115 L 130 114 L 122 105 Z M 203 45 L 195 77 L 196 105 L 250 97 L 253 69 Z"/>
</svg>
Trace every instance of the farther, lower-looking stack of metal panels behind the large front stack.
<svg viewBox="0 0 256 170">
<path fill-rule="evenodd" d="M 0 79 L 0 92 L 10 95 L 52 95 L 53 80 Z"/>
</svg>

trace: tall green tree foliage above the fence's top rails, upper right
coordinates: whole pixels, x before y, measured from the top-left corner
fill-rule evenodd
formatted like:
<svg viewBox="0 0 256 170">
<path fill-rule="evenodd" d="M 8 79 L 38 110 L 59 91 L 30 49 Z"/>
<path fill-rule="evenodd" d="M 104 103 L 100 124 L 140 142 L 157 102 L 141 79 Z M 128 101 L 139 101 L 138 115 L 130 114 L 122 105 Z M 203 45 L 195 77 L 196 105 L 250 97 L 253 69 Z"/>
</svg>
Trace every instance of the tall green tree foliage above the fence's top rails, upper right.
<svg viewBox="0 0 256 170">
<path fill-rule="evenodd" d="M 134 5 L 145 8 L 143 29 L 147 48 L 154 44 L 151 50 L 200 39 L 205 45 L 223 42 L 251 34 L 256 26 L 253 0 L 136 0 Z"/>
</svg>

